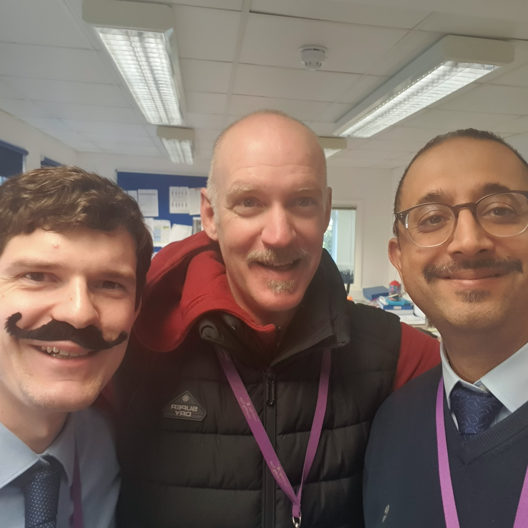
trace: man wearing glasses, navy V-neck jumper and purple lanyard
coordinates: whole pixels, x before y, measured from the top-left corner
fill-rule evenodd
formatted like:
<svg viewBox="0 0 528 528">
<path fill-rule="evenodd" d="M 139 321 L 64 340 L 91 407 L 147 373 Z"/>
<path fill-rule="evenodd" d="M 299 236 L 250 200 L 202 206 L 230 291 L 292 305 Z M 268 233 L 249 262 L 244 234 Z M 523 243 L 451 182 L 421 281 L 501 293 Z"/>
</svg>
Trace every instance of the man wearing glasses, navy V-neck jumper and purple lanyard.
<svg viewBox="0 0 528 528">
<path fill-rule="evenodd" d="M 366 526 L 528 526 L 528 164 L 488 132 L 438 136 L 394 211 L 390 259 L 442 362 L 376 415 Z"/>
</svg>

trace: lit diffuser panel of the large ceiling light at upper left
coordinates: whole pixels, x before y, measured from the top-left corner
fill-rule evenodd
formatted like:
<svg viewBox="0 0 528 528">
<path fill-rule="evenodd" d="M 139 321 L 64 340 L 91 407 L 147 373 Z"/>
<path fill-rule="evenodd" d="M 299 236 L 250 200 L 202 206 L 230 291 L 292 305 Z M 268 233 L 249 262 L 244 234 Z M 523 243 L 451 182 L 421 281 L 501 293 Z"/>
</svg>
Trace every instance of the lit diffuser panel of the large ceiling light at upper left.
<svg viewBox="0 0 528 528">
<path fill-rule="evenodd" d="M 95 30 L 147 121 L 153 125 L 182 125 L 165 34 L 110 27 Z"/>
</svg>

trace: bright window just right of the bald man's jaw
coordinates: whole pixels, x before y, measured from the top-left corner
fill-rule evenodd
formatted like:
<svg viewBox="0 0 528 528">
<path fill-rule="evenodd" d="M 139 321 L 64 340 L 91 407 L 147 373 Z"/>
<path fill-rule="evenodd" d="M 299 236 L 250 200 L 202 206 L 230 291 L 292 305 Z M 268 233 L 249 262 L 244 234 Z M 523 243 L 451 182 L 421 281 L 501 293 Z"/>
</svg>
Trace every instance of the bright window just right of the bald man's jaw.
<svg viewBox="0 0 528 528">
<path fill-rule="evenodd" d="M 333 208 L 330 223 L 325 232 L 323 248 L 331 254 L 341 271 L 343 282 L 354 282 L 354 262 L 356 245 L 356 210 L 353 208 Z"/>
</svg>

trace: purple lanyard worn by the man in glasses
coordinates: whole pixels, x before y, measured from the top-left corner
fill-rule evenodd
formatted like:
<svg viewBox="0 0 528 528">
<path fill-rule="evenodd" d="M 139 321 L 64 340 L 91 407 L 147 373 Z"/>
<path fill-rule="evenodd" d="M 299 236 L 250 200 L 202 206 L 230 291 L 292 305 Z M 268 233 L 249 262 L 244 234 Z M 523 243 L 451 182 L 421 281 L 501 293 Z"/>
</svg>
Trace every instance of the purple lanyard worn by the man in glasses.
<svg viewBox="0 0 528 528">
<path fill-rule="evenodd" d="M 446 528 L 460 528 L 453 484 L 451 482 L 451 470 L 449 469 L 449 456 L 447 454 L 446 425 L 444 423 L 444 376 L 440 378 L 436 396 L 436 438 L 438 445 L 438 471 L 440 473 L 440 489 L 442 492 L 442 503 L 444 504 Z M 513 528 L 528 528 L 528 471 L 524 477 L 523 489 L 519 505 L 517 506 Z"/>
</svg>

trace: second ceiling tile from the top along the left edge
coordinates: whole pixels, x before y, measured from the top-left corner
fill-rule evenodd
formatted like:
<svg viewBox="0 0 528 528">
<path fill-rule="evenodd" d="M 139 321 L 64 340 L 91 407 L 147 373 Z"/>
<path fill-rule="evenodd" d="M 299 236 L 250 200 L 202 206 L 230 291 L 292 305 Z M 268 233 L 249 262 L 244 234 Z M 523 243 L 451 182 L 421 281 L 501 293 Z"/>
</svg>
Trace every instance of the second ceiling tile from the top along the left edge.
<svg viewBox="0 0 528 528">
<path fill-rule="evenodd" d="M 0 42 L 4 76 L 114 84 L 98 51 Z"/>
</svg>

